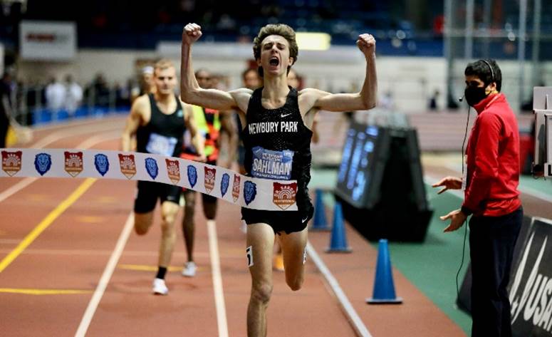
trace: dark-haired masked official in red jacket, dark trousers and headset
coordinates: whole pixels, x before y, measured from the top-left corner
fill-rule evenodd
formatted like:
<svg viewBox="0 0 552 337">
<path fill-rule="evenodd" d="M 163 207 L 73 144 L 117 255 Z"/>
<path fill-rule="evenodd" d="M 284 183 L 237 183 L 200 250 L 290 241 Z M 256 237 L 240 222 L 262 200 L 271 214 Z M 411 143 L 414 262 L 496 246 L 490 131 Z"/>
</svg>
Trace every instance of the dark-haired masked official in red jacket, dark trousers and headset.
<svg viewBox="0 0 552 337">
<path fill-rule="evenodd" d="M 464 203 L 441 217 L 452 232 L 469 220 L 472 259 L 472 337 L 511 337 L 509 282 L 521 229 L 519 128 L 500 93 L 502 76 L 493 60 L 469 63 L 464 71 L 467 103 L 477 110 L 465 157 L 464 179 L 445 177 L 433 185 L 464 189 Z M 465 183 L 463 186 L 463 182 Z"/>
</svg>

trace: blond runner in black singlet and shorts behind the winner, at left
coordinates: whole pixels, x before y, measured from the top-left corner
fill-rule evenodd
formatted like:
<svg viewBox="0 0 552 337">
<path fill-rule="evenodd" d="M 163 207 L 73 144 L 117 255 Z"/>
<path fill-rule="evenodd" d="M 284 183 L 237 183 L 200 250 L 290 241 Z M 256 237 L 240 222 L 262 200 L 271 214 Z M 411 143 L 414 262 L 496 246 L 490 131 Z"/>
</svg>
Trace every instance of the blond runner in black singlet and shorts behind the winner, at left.
<svg viewBox="0 0 552 337">
<path fill-rule="evenodd" d="M 155 93 L 138 97 L 132 104 L 122 136 L 123 151 L 131 151 L 131 139 L 136 135 L 137 152 L 178 157 L 182 151 L 182 137 L 186 128 L 192 134 L 199 159 L 204 160 L 203 140 L 197 133 L 191 107 L 183 105 L 177 95 L 177 73 L 171 61 L 155 63 Z M 153 209 L 157 199 L 161 202 L 161 244 L 157 275 L 153 293 L 167 295 L 165 274 L 175 247 L 175 219 L 179 210 L 181 187 L 159 182 L 137 183 L 134 203 L 134 229 L 144 235 L 153 223 Z"/>
</svg>

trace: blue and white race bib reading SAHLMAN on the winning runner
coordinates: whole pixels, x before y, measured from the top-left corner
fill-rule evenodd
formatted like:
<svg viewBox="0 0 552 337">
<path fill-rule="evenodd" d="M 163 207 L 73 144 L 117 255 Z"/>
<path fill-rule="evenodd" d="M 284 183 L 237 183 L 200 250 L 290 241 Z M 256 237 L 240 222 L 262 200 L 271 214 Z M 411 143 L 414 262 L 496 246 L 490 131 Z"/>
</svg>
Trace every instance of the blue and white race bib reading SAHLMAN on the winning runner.
<svg viewBox="0 0 552 337">
<path fill-rule="evenodd" d="M 260 146 L 253 147 L 251 175 L 256 178 L 291 180 L 293 154 L 291 150 L 272 151 Z"/>
</svg>

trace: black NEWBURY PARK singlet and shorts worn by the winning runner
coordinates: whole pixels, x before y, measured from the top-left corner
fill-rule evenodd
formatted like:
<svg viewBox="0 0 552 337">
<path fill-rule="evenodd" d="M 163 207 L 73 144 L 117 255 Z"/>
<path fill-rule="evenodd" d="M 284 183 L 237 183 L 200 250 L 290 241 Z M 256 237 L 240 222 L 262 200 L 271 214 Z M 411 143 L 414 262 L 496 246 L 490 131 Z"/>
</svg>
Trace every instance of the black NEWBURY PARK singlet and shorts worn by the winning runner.
<svg viewBox="0 0 552 337">
<path fill-rule="evenodd" d="M 261 104 L 263 88 L 251 95 L 246 113 L 245 168 L 250 177 L 297 180 L 298 211 L 265 211 L 241 208 L 246 224 L 269 224 L 275 233 L 301 232 L 313 217 L 307 185 L 311 180 L 311 137 L 299 112 L 298 93 L 290 88 L 286 103 L 277 109 Z"/>
</svg>

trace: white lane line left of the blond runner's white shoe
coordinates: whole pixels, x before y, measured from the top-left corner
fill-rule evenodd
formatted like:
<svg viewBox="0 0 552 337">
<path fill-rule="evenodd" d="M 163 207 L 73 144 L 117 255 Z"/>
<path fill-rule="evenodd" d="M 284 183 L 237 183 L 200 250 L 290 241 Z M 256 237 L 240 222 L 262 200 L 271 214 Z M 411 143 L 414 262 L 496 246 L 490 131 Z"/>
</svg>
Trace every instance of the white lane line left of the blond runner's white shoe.
<svg viewBox="0 0 552 337">
<path fill-rule="evenodd" d="M 85 336 L 86 331 L 88 331 L 90 321 L 92 321 L 94 313 L 96 309 L 98 309 L 98 304 L 100 304 L 100 300 L 102 299 L 103 293 L 105 292 L 105 289 L 109 284 L 109 280 L 113 275 L 113 271 L 115 271 L 115 267 L 117 266 L 120 256 L 121 254 L 123 254 L 123 249 L 125 249 L 128 237 L 130 236 L 130 232 L 132 232 L 132 227 L 134 227 L 134 213 L 130 212 L 127 218 L 127 222 L 125 222 L 125 227 L 123 227 L 123 232 L 121 232 L 119 239 L 117 240 L 117 244 L 115 244 L 113 254 L 111 254 L 108 264 L 107 266 L 105 266 L 102 277 L 98 282 L 98 286 L 96 286 L 96 290 L 92 295 L 92 299 L 90 299 L 88 307 L 86 308 L 86 311 L 83 315 L 83 319 L 78 325 L 75 337 L 83 337 Z"/>
</svg>

